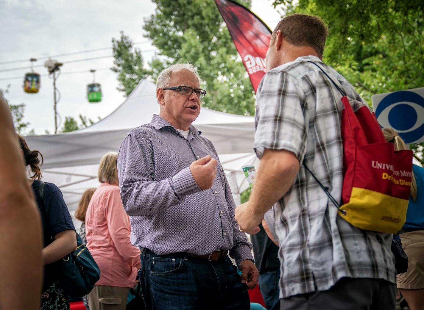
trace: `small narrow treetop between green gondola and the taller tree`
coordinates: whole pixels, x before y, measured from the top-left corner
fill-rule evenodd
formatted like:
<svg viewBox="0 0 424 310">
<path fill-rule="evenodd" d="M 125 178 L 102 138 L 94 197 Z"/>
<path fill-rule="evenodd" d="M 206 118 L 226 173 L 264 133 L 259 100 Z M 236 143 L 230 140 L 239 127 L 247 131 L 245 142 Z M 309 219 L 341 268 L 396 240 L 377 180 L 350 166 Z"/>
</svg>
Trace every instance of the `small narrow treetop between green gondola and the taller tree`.
<svg viewBox="0 0 424 310">
<path fill-rule="evenodd" d="M 139 81 L 150 76 L 151 72 L 143 68 L 141 50 L 133 49 L 133 42 L 123 31 L 120 39 L 112 39 L 112 45 L 115 60 L 111 69 L 118 74 L 120 82 L 120 87 L 117 89 L 128 96 Z"/>
</svg>

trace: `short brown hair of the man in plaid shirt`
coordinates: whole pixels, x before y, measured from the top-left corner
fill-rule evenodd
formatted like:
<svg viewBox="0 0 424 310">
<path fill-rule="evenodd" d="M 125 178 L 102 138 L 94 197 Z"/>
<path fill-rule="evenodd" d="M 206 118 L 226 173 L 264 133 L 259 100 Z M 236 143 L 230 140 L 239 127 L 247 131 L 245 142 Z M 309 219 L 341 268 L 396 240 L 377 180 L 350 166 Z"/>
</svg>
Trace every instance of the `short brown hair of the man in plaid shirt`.
<svg viewBox="0 0 424 310">
<path fill-rule="evenodd" d="M 274 29 L 271 44 L 274 44 L 278 30 L 290 44 L 313 47 L 322 58 L 328 28 L 318 16 L 298 13 L 286 16 Z"/>
</svg>

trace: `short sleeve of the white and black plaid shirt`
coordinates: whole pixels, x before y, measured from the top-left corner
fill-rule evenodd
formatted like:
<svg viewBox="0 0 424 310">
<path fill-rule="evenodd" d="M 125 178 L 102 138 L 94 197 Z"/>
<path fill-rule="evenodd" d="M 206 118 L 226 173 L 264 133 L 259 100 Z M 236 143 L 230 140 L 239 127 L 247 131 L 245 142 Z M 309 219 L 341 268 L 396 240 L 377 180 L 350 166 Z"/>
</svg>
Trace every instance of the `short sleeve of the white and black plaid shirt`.
<svg viewBox="0 0 424 310">
<path fill-rule="evenodd" d="M 254 150 L 285 149 L 303 161 L 307 141 L 307 102 L 294 77 L 286 72 L 268 72 L 258 87 Z"/>
</svg>

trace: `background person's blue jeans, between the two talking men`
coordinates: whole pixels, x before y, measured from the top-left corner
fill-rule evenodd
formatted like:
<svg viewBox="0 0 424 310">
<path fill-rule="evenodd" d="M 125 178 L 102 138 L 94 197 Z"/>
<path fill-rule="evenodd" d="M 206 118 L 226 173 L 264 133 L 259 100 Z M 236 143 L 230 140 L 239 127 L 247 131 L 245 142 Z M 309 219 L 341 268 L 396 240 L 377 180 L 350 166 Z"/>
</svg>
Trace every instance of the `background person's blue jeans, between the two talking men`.
<svg viewBox="0 0 424 310">
<path fill-rule="evenodd" d="M 278 288 L 279 280 L 280 269 L 277 269 L 276 271 L 264 272 L 259 275 L 259 290 L 261 291 L 266 308 L 268 310 L 280 308 L 280 290 Z"/>
</svg>

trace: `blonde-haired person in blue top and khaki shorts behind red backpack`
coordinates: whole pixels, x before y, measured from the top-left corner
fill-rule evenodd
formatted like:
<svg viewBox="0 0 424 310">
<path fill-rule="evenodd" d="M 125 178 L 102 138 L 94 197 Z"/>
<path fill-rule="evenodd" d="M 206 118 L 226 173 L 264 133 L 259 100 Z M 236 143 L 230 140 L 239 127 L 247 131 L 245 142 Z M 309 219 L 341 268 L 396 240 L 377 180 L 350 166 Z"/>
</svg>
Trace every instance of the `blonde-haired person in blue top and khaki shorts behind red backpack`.
<svg viewBox="0 0 424 310">
<path fill-rule="evenodd" d="M 383 129 L 386 141 L 395 150 L 409 149 L 398 133 Z M 412 185 L 406 222 L 399 232 L 403 249 L 408 256 L 408 270 L 397 275 L 397 287 L 411 310 L 424 309 L 424 169 L 412 165 Z"/>
</svg>

